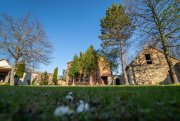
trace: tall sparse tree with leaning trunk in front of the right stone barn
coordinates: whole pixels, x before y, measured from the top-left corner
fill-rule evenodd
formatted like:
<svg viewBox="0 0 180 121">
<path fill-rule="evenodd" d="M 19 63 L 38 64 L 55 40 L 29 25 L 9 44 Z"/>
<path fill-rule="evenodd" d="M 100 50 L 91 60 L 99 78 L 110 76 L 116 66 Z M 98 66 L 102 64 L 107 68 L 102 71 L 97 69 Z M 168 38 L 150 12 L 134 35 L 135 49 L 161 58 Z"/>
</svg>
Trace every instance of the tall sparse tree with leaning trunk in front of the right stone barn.
<svg viewBox="0 0 180 121">
<path fill-rule="evenodd" d="M 162 44 L 162 49 L 169 66 L 172 83 L 178 83 L 170 59 L 168 43 L 178 41 L 180 37 L 179 3 L 177 0 L 129 0 L 127 8 L 136 26 L 146 39 L 151 38 Z"/>
</svg>

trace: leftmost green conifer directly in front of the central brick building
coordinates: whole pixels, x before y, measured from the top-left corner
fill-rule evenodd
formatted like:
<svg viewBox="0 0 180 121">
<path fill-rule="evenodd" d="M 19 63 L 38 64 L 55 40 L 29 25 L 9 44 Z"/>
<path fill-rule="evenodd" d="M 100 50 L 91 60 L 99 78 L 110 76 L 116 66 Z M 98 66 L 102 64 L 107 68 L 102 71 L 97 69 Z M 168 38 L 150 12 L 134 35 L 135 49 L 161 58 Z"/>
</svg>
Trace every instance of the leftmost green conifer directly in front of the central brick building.
<svg viewBox="0 0 180 121">
<path fill-rule="evenodd" d="M 70 77 L 77 77 L 79 75 L 79 57 L 77 55 L 74 56 L 74 59 L 71 63 L 71 67 L 69 69 L 69 76 Z"/>
</svg>

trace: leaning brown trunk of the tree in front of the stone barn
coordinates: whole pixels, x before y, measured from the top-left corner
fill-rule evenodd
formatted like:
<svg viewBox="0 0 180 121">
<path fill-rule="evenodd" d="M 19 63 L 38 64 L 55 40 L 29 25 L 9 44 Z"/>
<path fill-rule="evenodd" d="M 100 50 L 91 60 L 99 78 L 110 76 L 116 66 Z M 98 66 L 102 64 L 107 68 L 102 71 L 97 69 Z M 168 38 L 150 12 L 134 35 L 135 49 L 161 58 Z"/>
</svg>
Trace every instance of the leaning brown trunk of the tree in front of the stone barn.
<svg viewBox="0 0 180 121">
<path fill-rule="evenodd" d="M 167 61 L 168 66 L 169 66 L 169 75 L 171 77 L 171 82 L 174 84 L 178 84 L 179 81 L 178 81 L 178 78 L 177 78 L 176 73 L 174 71 L 173 63 L 169 57 L 168 47 L 165 44 L 165 42 L 162 42 L 162 45 L 163 45 L 164 55 L 165 55 L 166 61 Z"/>
</svg>

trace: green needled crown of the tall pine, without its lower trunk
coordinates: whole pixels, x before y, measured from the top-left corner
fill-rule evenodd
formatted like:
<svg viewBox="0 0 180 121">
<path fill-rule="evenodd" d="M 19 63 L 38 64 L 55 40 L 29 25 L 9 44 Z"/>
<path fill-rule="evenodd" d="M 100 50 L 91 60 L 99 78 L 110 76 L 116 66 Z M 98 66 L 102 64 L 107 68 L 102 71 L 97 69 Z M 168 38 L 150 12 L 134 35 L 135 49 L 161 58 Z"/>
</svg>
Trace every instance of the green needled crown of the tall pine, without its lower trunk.
<svg viewBox="0 0 180 121">
<path fill-rule="evenodd" d="M 130 17 L 121 4 L 113 4 L 108 8 L 106 16 L 100 22 L 102 29 L 99 37 L 106 46 L 117 46 L 120 42 L 126 41 L 134 29 Z"/>
</svg>

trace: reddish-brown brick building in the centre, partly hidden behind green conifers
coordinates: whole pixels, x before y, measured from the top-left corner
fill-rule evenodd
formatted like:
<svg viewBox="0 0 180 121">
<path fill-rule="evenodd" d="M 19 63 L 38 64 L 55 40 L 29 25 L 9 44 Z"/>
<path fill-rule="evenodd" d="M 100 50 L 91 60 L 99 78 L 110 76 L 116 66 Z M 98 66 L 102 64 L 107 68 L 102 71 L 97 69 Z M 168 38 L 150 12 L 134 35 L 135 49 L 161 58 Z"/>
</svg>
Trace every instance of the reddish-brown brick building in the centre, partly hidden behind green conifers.
<svg viewBox="0 0 180 121">
<path fill-rule="evenodd" d="M 67 85 L 73 84 L 73 78 L 69 77 L 69 69 L 71 67 L 71 63 L 67 63 L 67 71 L 66 71 L 66 83 Z M 75 78 L 75 85 L 90 85 L 90 75 L 87 75 L 84 78 L 83 74 L 81 76 Z M 98 67 L 96 72 L 93 75 L 93 85 L 109 85 L 111 83 L 111 70 L 108 61 L 101 57 L 98 60 Z"/>
</svg>

